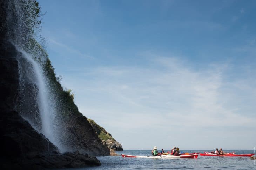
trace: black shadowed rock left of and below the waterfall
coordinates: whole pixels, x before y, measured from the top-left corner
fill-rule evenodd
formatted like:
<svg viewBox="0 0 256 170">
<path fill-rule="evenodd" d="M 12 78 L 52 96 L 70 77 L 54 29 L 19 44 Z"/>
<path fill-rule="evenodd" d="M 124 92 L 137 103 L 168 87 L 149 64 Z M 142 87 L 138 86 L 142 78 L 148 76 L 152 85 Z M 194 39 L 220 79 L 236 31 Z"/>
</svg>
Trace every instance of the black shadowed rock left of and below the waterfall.
<svg viewBox="0 0 256 170">
<path fill-rule="evenodd" d="M 100 165 L 87 154 L 60 154 L 43 134 L 15 111 L 19 86 L 18 62 L 15 46 L 0 39 L 0 138 L 2 141 L 1 167 L 3 169 L 47 169 Z"/>
</svg>

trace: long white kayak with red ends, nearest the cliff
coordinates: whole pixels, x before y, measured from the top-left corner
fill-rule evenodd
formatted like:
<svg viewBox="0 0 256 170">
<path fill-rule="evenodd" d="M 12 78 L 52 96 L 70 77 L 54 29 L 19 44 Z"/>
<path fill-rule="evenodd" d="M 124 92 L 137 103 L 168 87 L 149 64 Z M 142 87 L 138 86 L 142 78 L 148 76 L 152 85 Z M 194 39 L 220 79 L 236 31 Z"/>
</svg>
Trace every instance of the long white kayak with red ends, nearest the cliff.
<svg viewBox="0 0 256 170">
<path fill-rule="evenodd" d="M 130 158 L 162 158 L 162 159 L 173 159 L 173 158 L 192 158 L 196 159 L 198 157 L 198 154 L 191 154 L 191 155 L 180 155 L 180 156 L 174 156 L 174 155 L 161 155 L 161 156 L 133 156 L 133 155 L 124 155 L 121 154 L 122 157 L 130 157 Z"/>
</svg>

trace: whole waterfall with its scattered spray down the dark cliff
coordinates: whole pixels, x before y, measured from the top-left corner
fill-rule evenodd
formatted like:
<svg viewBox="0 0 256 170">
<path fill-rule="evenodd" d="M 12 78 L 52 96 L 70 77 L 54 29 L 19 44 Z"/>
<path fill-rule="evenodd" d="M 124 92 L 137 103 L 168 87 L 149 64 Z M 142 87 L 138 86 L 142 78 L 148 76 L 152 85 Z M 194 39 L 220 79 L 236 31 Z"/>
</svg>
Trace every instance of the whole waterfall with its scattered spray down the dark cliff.
<svg viewBox="0 0 256 170">
<path fill-rule="evenodd" d="M 58 117 L 58 100 L 45 74 L 47 54 L 39 45 L 34 32 L 40 24 L 39 7 L 35 0 L 9 0 L 7 8 L 7 37 L 15 44 L 19 65 L 19 91 L 16 110 L 37 131 L 44 134 L 60 151 L 65 148 Z M 15 57 L 15 56 L 14 56 Z"/>
</svg>

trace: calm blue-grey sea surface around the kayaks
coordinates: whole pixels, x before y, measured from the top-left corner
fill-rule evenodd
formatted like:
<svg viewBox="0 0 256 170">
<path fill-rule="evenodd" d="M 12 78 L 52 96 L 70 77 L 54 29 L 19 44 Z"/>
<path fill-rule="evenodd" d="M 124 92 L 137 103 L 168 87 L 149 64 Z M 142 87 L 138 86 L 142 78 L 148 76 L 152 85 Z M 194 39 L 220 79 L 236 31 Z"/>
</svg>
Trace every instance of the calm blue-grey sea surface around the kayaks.
<svg viewBox="0 0 256 170">
<path fill-rule="evenodd" d="M 181 150 L 183 153 L 213 151 L 213 150 Z M 254 153 L 253 150 L 224 150 L 235 151 L 236 154 Z M 124 150 L 117 154 L 151 156 L 151 150 Z M 97 157 L 101 166 L 80 168 L 76 170 L 127 170 L 127 169 L 255 169 L 255 162 L 250 157 L 219 157 L 198 156 L 197 159 L 153 159 L 153 158 L 123 158 L 122 156 L 100 156 Z"/>
</svg>

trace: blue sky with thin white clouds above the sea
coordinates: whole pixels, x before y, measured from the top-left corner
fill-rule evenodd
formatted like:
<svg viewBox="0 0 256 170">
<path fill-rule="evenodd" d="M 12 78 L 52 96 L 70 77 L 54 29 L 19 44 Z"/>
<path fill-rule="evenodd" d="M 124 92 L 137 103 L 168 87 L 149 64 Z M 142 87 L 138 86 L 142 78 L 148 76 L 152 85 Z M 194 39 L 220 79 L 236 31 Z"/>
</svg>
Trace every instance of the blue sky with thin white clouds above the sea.
<svg viewBox="0 0 256 170">
<path fill-rule="evenodd" d="M 79 111 L 124 150 L 253 150 L 256 1 L 38 0 Z"/>
</svg>

